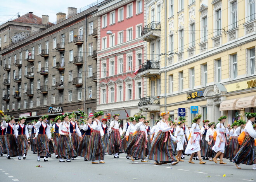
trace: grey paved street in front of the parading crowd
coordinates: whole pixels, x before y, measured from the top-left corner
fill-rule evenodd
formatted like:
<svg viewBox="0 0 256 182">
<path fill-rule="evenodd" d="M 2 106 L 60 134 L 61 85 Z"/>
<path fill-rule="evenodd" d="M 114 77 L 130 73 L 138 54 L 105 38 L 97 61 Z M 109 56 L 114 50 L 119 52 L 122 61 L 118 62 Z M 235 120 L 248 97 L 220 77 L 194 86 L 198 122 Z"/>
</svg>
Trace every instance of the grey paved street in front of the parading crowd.
<svg viewBox="0 0 256 182">
<path fill-rule="evenodd" d="M 187 157 L 188 158 L 188 157 Z M 104 182 L 139 182 L 151 181 L 182 181 L 182 182 L 216 182 L 225 180 L 234 181 L 256 181 L 256 171 L 252 166 L 241 165 L 242 170 L 238 170 L 235 165 L 228 160 L 227 165 L 207 162 L 199 165 L 180 162 L 175 166 L 170 164 L 156 166 L 154 161 L 141 163 L 140 160 L 126 160 L 124 154 L 120 154 L 119 159 L 114 159 L 112 155 L 105 156 L 105 164 L 92 164 L 78 157 L 71 163 L 59 163 L 58 159 L 49 158 L 48 162 L 36 161 L 37 156 L 29 151 L 26 160 L 18 160 L 17 157 L 10 160 L 6 156 L 0 157 L 0 181 L 1 182 L 47 182 L 47 181 L 104 181 Z M 42 167 L 36 167 L 41 165 Z M 223 177 L 223 175 L 226 175 Z"/>
</svg>

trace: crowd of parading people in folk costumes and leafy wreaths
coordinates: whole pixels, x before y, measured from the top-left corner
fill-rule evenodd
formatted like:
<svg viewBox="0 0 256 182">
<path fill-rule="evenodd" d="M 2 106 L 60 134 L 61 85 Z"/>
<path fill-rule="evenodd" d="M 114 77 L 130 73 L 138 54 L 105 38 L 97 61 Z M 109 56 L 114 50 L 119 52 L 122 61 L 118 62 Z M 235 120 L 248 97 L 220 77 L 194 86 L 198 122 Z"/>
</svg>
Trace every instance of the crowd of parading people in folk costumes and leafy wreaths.
<svg viewBox="0 0 256 182">
<path fill-rule="evenodd" d="M 19 160 L 26 159 L 30 145 L 31 151 L 37 154 L 37 161 L 43 158 L 45 162 L 55 154 L 59 162 L 65 162 L 64 159 L 71 162 L 81 156 L 97 164 L 96 161 L 105 163 L 106 153 L 114 158 L 126 153 L 126 158 L 132 161 L 153 160 L 155 165 L 176 165 L 184 162 L 187 155 L 192 164 L 193 160 L 199 160 L 199 164 L 219 161 L 225 165 L 223 158 L 229 158 L 238 169 L 242 163 L 253 165 L 256 170 L 256 124 L 253 124 L 256 113 L 245 113 L 247 121 L 240 118 L 227 127 L 224 126 L 226 116 L 221 116 L 217 123 L 204 120 L 201 128 L 201 115 L 187 127 L 185 117 L 173 122 L 166 111 L 150 128 L 149 121 L 139 113 L 128 117 L 123 129 L 119 114 L 112 116 L 109 126 L 103 115 L 102 111 L 90 114 L 82 124 L 76 120 L 74 112 L 62 113 L 52 122 L 45 115 L 29 124 L 25 124 L 26 117 L 20 117 L 18 124 L 14 117 L 4 117 L 0 127 L 0 155 L 7 154 L 8 159 L 15 156 Z"/>
</svg>

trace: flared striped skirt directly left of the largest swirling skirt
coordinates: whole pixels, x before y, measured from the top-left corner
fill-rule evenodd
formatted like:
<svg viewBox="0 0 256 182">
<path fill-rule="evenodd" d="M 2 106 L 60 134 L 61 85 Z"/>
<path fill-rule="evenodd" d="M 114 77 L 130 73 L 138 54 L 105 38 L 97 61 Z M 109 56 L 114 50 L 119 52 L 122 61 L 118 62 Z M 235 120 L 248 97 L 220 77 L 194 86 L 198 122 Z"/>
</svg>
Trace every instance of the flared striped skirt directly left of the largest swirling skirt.
<svg viewBox="0 0 256 182">
<path fill-rule="evenodd" d="M 136 131 L 128 144 L 125 153 L 130 154 L 135 158 L 144 159 L 146 155 L 149 155 L 149 149 L 147 148 L 147 138 L 144 131 Z"/>
</svg>

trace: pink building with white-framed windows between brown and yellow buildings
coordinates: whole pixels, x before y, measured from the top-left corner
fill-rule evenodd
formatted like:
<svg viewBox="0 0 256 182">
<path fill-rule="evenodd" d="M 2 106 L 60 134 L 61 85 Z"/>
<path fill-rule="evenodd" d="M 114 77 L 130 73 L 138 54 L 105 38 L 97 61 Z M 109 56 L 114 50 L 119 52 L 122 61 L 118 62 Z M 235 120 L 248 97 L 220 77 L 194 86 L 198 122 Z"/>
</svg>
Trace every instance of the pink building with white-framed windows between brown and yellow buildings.
<svg viewBox="0 0 256 182">
<path fill-rule="evenodd" d="M 138 112 L 144 79 L 134 72 L 145 62 L 143 0 L 110 0 L 98 7 L 97 111 L 119 113 L 124 121 Z"/>
</svg>

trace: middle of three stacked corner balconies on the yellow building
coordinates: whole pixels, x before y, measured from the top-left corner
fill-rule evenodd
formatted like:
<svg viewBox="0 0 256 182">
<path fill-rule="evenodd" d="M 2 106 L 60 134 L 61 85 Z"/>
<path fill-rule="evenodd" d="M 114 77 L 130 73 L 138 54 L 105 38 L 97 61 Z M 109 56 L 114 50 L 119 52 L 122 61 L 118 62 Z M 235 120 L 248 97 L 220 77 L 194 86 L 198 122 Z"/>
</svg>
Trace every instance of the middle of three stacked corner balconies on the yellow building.
<svg viewBox="0 0 256 182">
<path fill-rule="evenodd" d="M 148 61 L 140 65 L 138 76 L 151 78 L 157 75 L 160 75 L 159 61 Z"/>
</svg>

